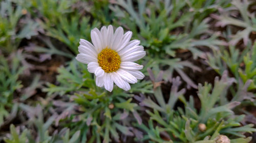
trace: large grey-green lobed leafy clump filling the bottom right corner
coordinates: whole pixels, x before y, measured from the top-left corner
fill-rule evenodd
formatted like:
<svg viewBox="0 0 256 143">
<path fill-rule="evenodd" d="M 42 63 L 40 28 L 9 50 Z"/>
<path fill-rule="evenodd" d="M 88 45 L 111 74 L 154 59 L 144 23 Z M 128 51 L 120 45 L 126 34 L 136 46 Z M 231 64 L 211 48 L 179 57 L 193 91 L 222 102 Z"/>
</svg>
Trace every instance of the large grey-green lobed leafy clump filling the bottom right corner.
<svg viewBox="0 0 256 143">
<path fill-rule="evenodd" d="M 157 79 L 151 77 L 151 79 L 155 84 L 161 82 L 161 76 Z M 199 84 L 200 109 L 195 108 L 195 101 L 192 96 L 190 96 L 189 102 L 185 100 L 183 96 L 185 89 L 179 91 L 179 85 L 181 84 L 179 77 L 172 80 L 173 85 L 168 102 L 165 101 L 161 86 L 158 84 L 158 87 L 154 90 L 156 101 L 148 97 L 140 103 L 142 106 L 153 109 L 153 112 L 152 110 L 146 110 L 150 115 L 149 126 L 137 125 L 147 133 L 143 140 L 150 140 L 150 142 L 210 143 L 215 142 L 218 135 L 224 134 L 235 138 L 231 139 L 231 142 L 249 142 L 251 138 L 244 139 L 245 135 L 243 133 L 255 132 L 256 129 L 252 128 L 252 124 L 241 126 L 240 122 L 245 116 L 236 116 L 231 110 L 240 102 L 229 102 L 226 99 L 227 90 L 233 82 L 234 79 L 228 78 L 227 72 L 225 72 L 220 80 L 216 78 L 213 88 L 209 83 Z M 184 103 L 184 109 L 178 107 L 178 110 L 174 110 L 178 99 Z M 158 124 L 154 125 L 153 121 Z M 205 129 L 202 129 L 199 124 L 205 125 Z M 242 138 L 237 139 L 235 136 Z"/>
</svg>

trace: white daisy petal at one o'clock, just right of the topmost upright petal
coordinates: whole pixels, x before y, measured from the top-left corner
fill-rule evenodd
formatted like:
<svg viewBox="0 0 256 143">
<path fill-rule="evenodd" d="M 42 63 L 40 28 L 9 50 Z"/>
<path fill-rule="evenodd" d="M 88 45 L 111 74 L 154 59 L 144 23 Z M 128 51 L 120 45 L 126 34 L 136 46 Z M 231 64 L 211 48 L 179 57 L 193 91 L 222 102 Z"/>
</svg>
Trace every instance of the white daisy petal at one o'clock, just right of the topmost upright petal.
<svg viewBox="0 0 256 143">
<path fill-rule="evenodd" d="M 116 50 L 119 47 L 119 45 L 121 44 L 122 39 L 123 39 L 123 28 L 118 27 L 115 31 L 113 43 L 110 48 L 113 50 Z"/>
</svg>

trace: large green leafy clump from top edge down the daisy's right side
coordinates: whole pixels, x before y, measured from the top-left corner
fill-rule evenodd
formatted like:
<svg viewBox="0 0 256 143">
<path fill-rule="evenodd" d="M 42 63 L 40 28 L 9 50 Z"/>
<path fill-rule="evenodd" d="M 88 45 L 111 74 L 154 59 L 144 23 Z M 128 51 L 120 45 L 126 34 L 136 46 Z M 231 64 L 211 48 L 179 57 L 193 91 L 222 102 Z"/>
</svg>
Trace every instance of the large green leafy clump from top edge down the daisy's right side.
<svg viewBox="0 0 256 143">
<path fill-rule="evenodd" d="M 138 5 L 138 10 L 134 7 Z M 188 84 L 197 85 L 184 72 L 185 68 L 193 71 L 201 69 L 188 61 L 176 58 L 177 53 L 191 52 L 193 58 L 205 58 L 201 50 L 205 47 L 218 48 L 223 42 L 218 40 L 219 33 L 209 30 L 210 12 L 227 6 L 223 1 L 124 1 L 113 2 L 111 9 L 116 14 L 114 19 L 118 25 L 131 30 L 134 38 L 147 47 L 146 61 L 153 71 L 158 73 L 164 69 L 163 79 L 172 79 L 174 71 Z M 205 12 L 205 13 L 204 13 Z M 202 14 L 203 13 L 203 14 Z M 135 22 L 134 22 L 135 21 Z M 157 24 L 156 24 L 157 23 Z M 153 59 L 153 60 L 152 60 Z M 150 61 L 152 60 L 152 62 Z"/>
</svg>

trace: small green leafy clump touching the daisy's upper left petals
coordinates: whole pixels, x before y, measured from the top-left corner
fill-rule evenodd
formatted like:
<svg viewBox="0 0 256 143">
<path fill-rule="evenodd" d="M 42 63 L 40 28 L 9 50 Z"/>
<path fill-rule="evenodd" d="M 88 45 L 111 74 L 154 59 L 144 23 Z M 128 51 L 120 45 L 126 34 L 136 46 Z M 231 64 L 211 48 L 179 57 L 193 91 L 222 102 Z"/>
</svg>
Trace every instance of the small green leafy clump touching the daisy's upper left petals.
<svg viewBox="0 0 256 143">
<path fill-rule="evenodd" d="M 80 39 L 90 39 L 92 27 L 98 27 L 99 23 L 94 21 L 90 24 L 90 17 L 82 17 L 80 14 L 57 17 L 58 21 L 52 26 L 51 21 L 41 22 L 47 31 L 46 34 L 65 43 L 70 50 L 77 54 Z M 78 28 L 79 27 L 79 28 Z"/>
</svg>

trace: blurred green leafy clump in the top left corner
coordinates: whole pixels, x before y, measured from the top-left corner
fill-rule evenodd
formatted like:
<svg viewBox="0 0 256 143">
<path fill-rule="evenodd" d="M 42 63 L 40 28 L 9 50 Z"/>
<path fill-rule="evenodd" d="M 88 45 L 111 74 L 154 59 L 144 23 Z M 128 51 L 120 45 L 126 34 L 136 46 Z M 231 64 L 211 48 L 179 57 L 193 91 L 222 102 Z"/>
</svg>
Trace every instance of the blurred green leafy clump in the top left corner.
<svg viewBox="0 0 256 143">
<path fill-rule="evenodd" d="M 20 6 L 13 6 L 10 0 L 0 4 L 0 48 L 9 54 L 15 50 L 23 38 L 30 39 L 37 35 L 38 23 L 28 20 L 25 24 L 17 25 L 25 13 Z"/>
</svg>

